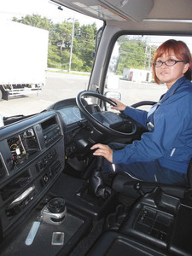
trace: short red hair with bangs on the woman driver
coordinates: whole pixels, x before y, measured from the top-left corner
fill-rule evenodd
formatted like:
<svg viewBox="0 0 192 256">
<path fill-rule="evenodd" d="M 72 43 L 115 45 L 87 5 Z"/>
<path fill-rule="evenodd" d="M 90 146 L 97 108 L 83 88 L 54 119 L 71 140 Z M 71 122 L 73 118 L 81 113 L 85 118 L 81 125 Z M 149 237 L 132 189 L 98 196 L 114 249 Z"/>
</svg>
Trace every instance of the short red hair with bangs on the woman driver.
<svg viewBox="0 0 192 256">
<path fill-rule="evenodd" d="M 184 76 L 186 79 L 189 79 L 191 81 L 191 74 L 192 74 L 192 59 L 191 54 L 189 51 L 188 46 L 183 41 L 177 41 L 174 39 L 167 40 L 163 44 L 161 44 L 158 49 L 156 49 L 154 53 L 154 62 L 157 61 L 160 56 L 162 56 L 165 53 L 173 52 L 174 55 L 177 56 L 178 60 L 185 61 L 186 63 L 189 63 L 189 68 L 186 73 L 184 73 Z M 160 79 L 157 78 L 155 73 L 155 67 L 153 66 L 153 73 L 154 73 L 154 81 L 157 84 L 160 84 Z"/>
</svg>

